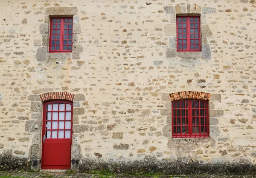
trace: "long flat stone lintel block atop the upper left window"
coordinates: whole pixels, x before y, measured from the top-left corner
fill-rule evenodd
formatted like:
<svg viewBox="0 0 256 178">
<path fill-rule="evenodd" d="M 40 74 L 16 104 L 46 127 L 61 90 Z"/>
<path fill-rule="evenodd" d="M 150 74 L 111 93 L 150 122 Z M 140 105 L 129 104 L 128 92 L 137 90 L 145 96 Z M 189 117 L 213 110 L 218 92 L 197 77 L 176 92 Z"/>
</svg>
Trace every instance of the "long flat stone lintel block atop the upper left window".
<svg viewBox="0 0 256 178">
<path fill-rule="evenodd" d="M 76 15 L 78 12 L 77 7 L 48 7 L 45 15 Z"/>
</svg>

